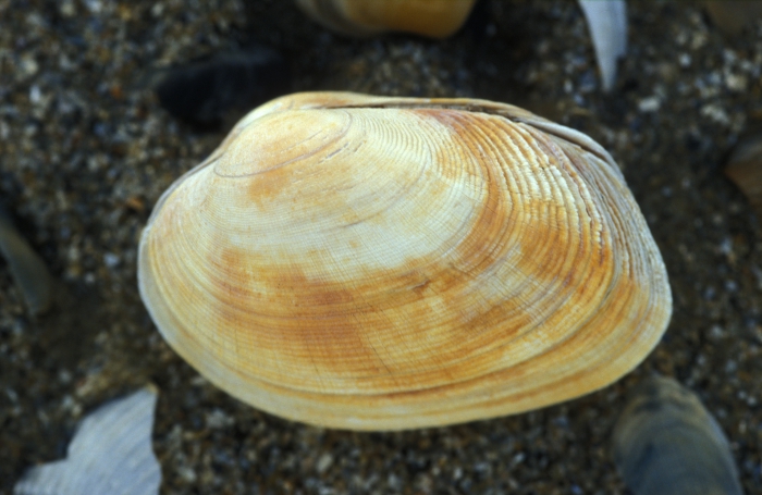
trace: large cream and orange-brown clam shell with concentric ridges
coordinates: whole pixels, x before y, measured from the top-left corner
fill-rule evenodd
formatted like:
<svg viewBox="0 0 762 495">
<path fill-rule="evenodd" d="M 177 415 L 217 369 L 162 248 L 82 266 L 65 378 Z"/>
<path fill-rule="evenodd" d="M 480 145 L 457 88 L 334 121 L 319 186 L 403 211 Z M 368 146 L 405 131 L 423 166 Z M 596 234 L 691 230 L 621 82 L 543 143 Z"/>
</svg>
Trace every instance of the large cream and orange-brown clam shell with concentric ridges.
<svg viewBox="0 0 762 495">
<path fill-rule="evenodd" d="M 316 92 L 254 110 L 159 200 L 138 281 L 164 338 L 219 387 L 356 430 L 603 387 L 672 308 L 609 153 L 466 99 Z"/>
</svg>

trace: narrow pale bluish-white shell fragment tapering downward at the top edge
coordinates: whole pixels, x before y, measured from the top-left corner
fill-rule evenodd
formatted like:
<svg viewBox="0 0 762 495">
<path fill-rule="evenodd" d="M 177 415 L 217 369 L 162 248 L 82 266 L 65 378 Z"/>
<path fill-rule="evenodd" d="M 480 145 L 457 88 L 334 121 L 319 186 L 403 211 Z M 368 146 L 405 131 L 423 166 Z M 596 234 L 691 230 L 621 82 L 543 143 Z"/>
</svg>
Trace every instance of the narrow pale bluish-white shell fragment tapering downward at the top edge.
<svg viewBox="0 0 762 495">
<path fill-rule="evenodd" d="M 627 4 L 625 0 L 579 0 L 588 22 L 603 89 L 616 81 L 616 60 L 627 51 Z"/>
</svg>

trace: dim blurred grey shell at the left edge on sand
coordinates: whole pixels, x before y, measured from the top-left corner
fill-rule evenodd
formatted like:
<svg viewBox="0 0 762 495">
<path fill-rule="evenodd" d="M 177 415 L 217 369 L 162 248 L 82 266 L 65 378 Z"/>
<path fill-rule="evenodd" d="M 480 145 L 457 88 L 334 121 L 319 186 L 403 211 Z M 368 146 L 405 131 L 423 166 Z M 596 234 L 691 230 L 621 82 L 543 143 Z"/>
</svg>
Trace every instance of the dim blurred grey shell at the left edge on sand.
<svg viewBox="0 0 762 495">
<path fill-rule="evenodd" d="M 41 314 L 52 301 L 52 277 L 42 259 L 15 230 L 8 213 L 0 207 L 0 255 L 8 261 L 11 274 L 21 289 L 32 314 Z"/>
</svg>

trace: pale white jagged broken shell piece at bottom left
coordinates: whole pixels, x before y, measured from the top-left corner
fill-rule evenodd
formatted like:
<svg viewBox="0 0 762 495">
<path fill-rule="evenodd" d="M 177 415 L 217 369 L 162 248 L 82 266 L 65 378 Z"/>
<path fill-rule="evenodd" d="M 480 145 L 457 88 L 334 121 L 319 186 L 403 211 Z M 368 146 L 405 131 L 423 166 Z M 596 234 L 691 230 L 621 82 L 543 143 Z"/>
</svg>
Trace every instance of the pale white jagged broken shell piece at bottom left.
<svg viewBox="0 0 762 495">
<path fill-rule="evenodd" d="M 14 495 L 149 495 L 161 468 L 151 448 L 157 389 L 143 388 L 88 414 L 65 460 L 27 471 Z"/>
</svg>

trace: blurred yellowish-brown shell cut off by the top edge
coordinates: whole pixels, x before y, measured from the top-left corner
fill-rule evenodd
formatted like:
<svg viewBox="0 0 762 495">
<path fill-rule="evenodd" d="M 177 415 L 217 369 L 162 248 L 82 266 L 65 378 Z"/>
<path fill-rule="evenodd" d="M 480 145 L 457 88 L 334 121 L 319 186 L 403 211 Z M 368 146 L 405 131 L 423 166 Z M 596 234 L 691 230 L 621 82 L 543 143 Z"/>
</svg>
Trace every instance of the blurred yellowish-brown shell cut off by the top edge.
<svg viewBox="0 0 762 495">
<path fill-rule="evenodd" d="M 476 0 L 296 0 L 314 21 L 347 36 L 388 30 L 431 38 L 454 34 L 468 18 Z"/>
</svg>

